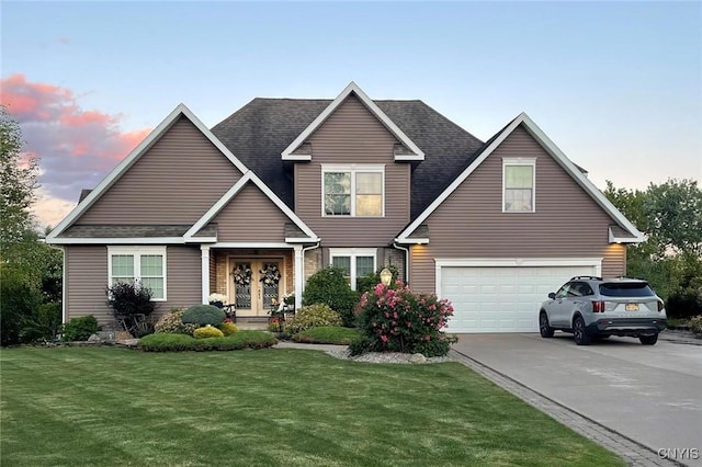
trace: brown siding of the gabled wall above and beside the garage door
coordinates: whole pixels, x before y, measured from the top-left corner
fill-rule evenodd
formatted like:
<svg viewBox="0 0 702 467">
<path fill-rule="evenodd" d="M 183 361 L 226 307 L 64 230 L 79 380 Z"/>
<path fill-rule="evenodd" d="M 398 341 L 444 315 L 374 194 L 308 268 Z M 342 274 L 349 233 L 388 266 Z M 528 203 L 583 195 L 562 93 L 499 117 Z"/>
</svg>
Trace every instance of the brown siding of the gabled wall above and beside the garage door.
<svg viewBox="0 0 702 467">
<path fill-rule="evenodd" d="M 536 212 L 502 213 L 502 157 L 520 156 L 536 158 Z M 619 275 L 612 223 L 520 127 L 427 219 L 430 244 L 412 247 L 412 285 L 433 292 L 434 258 L 604 258 L 602 273 Z"/>
</svg>

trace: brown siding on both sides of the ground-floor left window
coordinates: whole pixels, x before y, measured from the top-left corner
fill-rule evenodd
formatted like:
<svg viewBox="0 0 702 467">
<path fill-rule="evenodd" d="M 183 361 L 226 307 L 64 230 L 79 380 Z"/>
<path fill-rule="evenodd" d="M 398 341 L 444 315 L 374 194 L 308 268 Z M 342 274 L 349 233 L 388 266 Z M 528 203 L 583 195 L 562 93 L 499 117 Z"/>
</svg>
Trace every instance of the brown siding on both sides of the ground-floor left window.
<svg viewBox="0 0 702 467">
<path fill-rule="evenodd" d="M 200 247 L 168 247 L 167 298 L 159 301 L 156 317 L 171 308 L 201 303 Z M 66 247 L 67 319 L 93 315 L 106 328 L 113 324 L 112 310 L 105 305 L 107 248 L 104 246 Z"/>
</svg>

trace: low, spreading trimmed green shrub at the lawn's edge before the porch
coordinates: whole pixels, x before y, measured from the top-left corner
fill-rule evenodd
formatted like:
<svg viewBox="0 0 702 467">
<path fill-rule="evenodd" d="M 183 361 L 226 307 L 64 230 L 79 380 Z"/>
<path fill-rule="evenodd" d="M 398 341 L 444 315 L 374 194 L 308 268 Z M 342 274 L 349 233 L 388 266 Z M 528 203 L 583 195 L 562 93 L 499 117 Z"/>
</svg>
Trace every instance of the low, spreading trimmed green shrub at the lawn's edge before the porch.
<svg viewBox="0 0 702 467">
<path fill-rule="evenodd" d="M 278 340 L 263 331 L 239 331 L 225 338 L 194 339 L 184 334 L 150 334 L 141 338 L 137 348 L 146 352 L 233 351 L 267 349 Z"/>
</svg>

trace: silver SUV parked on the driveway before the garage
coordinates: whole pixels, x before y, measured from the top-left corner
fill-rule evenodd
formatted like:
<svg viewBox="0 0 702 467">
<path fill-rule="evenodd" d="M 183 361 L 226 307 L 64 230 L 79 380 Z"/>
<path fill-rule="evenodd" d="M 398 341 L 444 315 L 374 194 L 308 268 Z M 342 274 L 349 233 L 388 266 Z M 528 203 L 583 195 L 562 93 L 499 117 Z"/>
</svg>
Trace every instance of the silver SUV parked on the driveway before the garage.
<svg viewBox="0 0 702 467">
<path fill-rule="evenodd" d="M 542 338 L 552 338 L 555 330 L 573 332 L 578 345 L 610 335 L 630 335 L 654 345 L 664 329 L 663 300 L 637 278 L 573 277 L 548 294 L 539 311 Z"/>
</svg>

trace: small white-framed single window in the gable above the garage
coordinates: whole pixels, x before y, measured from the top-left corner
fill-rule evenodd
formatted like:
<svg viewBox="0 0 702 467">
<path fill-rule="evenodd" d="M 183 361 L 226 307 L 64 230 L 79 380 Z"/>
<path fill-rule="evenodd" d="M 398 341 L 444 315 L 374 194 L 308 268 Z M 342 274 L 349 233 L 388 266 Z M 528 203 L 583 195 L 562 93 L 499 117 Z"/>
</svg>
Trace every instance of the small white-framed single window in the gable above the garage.
<svg viewBox="0 0 702 467">
<path fill-rule="evenodd" d="M 535 207 L 535 158 L 502 159 L 502 212 L 533 213 Z"/>
</svg>

